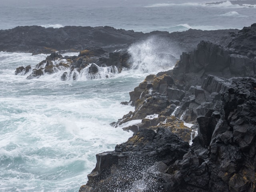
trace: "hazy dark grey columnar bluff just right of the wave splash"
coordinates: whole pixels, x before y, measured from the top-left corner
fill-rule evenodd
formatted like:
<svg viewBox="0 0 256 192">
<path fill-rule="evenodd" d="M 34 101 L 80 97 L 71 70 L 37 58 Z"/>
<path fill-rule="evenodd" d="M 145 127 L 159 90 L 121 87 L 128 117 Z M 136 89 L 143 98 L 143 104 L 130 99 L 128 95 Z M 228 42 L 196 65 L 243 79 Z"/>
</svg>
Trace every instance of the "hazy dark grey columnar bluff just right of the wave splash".
<svg viewBox="0 0 256 192">
<path fill-rule="evenodd" d="M 175 84 L 186 90 L 191 85 L 201 85 L 204 78 L 214 76 L 231 78 L 232 76 L 254 76 L 255 59 L 234 54 L 234 50 L 202 41 L 195 51 L 182 53 L 180 61 L 173 69 L 172 78 Z"/>
</svg>

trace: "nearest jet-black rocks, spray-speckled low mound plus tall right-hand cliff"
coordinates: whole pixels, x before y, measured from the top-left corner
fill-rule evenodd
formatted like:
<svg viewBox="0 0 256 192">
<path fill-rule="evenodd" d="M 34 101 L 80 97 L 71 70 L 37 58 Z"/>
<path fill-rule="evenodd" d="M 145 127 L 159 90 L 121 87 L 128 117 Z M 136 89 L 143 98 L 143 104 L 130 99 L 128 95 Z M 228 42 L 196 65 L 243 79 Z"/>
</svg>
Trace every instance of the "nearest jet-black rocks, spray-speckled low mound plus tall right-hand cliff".
<svg viewBox="0 0 256 192">
<path fill-rule="evenodd" d="M 80 192 L 254 192 L 256 79 L 228 82 L 220 111 L 208 109 L 197 118 L 200 135 L 192 146 L 166 128 L 142 129 L 115 151 L 97 155 Z"/>
</svg>

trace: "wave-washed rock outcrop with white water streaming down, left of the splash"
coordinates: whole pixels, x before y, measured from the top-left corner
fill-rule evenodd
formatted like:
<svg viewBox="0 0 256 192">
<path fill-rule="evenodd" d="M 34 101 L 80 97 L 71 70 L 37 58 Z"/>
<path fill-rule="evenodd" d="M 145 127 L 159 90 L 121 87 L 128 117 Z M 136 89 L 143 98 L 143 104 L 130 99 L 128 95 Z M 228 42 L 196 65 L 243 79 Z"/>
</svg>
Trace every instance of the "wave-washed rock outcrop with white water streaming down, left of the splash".
<svg viewBox="0 0 256 192">
<path fill-rule="evenodd" d="M 65 57 L 54 52 L 34 67 L 18 67 L 15 74 L 28 75 L 27 79 L 53 73 L 61 73 L 61 80 L 77 80 L 79 76 L 87 79 L 108 78 L 123 68 L 129 68 L 129 58 L 125 49 L 108 53 L 100 47 L 90 47 L 80 51 L 78 56 Z M 100 74 L 102 71 L 106 73 Z"/>
</svg>

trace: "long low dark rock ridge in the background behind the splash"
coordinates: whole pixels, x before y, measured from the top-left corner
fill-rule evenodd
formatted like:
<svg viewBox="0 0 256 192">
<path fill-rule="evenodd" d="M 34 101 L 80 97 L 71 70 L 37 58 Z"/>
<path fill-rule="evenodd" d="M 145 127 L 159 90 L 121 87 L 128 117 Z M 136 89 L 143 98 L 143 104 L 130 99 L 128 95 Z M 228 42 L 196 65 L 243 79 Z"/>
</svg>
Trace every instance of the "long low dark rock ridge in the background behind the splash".
<svg viewBox="0 0 256 192">
<path fill-rule="evenodd" d="M 0 51 L 50 54 L 53 51 L 79 52 L 88 47 L 101 47 L 106 51 L 112 52 L 116 49 L 127 49 L 132 43 L 152 36 L 166 37 L 166 41 L 179 45 L 183 51 L 192 51 L 202 40 L 217 44 L 225 43 L 228 33 L 236 33 L 237 31 L 237 29 L 216 31 L 189 29 L 188 31 L 173 33 L 166 31 L 142 33 L 114 29 L 108 26 L 66 26 L 57 29 L 40 26 L 20 26 L 13 29 L 0 30 Z"/>
</svg>

